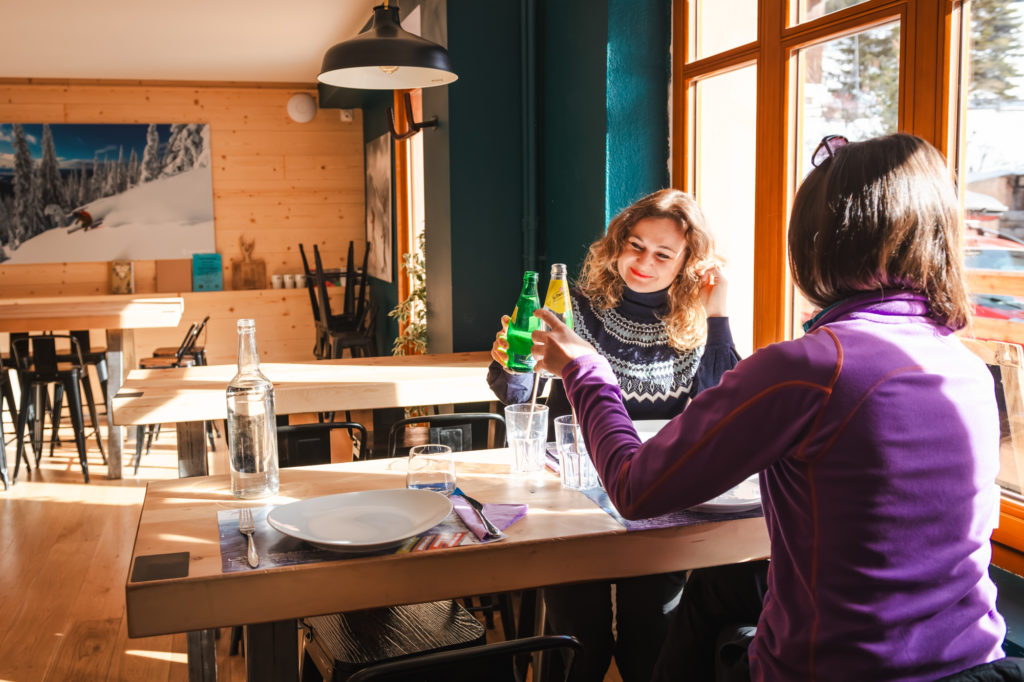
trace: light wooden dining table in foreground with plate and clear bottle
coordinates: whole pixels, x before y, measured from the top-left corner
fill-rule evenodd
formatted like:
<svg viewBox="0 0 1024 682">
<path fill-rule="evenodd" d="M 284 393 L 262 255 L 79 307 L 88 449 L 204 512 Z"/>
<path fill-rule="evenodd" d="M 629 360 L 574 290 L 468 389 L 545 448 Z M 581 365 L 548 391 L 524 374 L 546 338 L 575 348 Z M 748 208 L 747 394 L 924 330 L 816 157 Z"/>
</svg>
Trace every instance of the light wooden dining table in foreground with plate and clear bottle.
<svg viewBox="0 0 1024 682">
<path fill-rule="evenodd" d="M 484 503 L 528 505 L 506 538 L 428 551 L 356 555 L 224 572 L 218 512 L 319 496 L 403 487 L 403 459 L 281 471 L 280 494 L 241 501 L 227 476 L 151 482 L 125 586 L 130 637 L 188 633 L 189 678 L 216 678 L 210 629 L 247 624 L 251 680 L 297 677 L 302 616 L 606 580 L 763 558 L 761 517 L 627 530 L 557 475 L 511 472 L 508 450 L 459 453 L 458 485 Z M 233 514 L 231 514 L 233 516 Z M 257 547 L 257 549 L 259 549 Z M 265 548 L 264 548 L 265 549 Z M 140 562 L 184 553 L 184 574 L 133 580 Z M 270 645 L 267 645 L 270 642 Z"/>
</svg>

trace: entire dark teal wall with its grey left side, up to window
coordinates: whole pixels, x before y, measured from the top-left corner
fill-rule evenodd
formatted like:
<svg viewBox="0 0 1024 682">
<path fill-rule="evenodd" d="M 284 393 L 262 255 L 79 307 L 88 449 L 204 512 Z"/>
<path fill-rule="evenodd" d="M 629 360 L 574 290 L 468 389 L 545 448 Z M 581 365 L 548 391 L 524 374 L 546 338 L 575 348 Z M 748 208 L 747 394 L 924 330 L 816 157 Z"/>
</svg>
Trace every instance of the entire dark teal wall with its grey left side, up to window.
<svg viewBox="0 0 1024 682">
<path fill-rule="evenodd" d="M 459 74 L 423 96 L 424 117 L 440 123 L 421 133 L 430 350 L 480 350 L 514 305 L 524 265 L 542 282 L 552 262 L 575 275 L 611 215 L 668 185 L 671 0 L 421 0 L 403 2 L 402 14 L 417 4 L 424 37 L 447 46 Z M 529 33 L 532 124 L 522 90 Z M 386 106 L 365 105 L 366 139 L 384 131 Z M 536 147 L 524 148 L 531 133 Z M 531 191 L 537 233 L 524 246 Z M 387 352 L 396 288 L 373 287 Z"/>
</svg>

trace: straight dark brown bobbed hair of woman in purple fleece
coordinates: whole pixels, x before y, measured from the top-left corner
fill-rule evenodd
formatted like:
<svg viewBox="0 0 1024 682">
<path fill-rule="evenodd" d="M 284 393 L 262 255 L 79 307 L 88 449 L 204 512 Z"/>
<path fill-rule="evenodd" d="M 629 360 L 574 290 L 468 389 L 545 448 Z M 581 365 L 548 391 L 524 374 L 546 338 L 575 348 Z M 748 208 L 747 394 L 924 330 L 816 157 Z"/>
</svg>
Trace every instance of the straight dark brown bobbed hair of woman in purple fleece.
<svg viewBox="0 0 1024 682">
<path fill-rule="evenodd" d="M 963 241 L 945 160 L 899 133 L 843 146 L 811 171 L 790 217 L 790 267 L 821 307 L 859 292 L 911 290 L 956 330 L 971 319 Z"/>
</svg>

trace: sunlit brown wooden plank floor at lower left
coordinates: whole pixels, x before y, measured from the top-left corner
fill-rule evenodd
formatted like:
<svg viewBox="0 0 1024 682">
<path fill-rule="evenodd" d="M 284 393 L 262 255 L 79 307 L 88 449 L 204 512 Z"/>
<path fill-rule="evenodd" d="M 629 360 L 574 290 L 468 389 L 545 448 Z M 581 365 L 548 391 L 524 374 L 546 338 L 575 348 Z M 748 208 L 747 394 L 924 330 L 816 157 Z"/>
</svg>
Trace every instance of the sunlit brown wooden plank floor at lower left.
<svg viewBox="0 0 1024 682">
<path fill-rule="evenodd" d="M 3 417 L 10 441 L 12 427 Z M 0 682 L 186 680 L 185 636 L 129 639 L 124 601 L 145 484 L 177 476 L 174 429 L 162 431 L 138 476 L 126 467 L 121 480 L 106 478 L 90 439 L 89 484 L 70 426 L 60 435 L 53 457 L 44 456 L 31 473 L 23 467 L 9 491 L 0 484 Z M 14 452 L 8 442 L 11 475 Z M 487 639 L 501 633 L 488 631 Z M 229 631 L 222 630 L 218 680 L 238 682 L 245 664 L 228 655 L 228 641 Z M 605 680 L 620 681 L 613 664 Z"/>
</svg>

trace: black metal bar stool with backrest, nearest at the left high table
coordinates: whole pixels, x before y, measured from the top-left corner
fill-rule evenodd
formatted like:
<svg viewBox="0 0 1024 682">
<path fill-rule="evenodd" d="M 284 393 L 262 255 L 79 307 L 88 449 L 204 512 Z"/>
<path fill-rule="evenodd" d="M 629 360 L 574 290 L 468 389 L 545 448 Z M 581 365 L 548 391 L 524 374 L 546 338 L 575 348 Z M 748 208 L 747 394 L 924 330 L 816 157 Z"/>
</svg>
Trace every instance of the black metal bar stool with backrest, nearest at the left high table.
<svg viewBox="0 0 1024 682">
<path fill-rule="evenodd" d="M 65 339 L 71 344 L 71 357 L 73 361 L 58 363 L 56 352 L 56 340 Z M 29 353 L 31 342 L 31 354 Z M 85 446 L 85 424 L 82 415 L 82 395 L 84 393 L 86 404 L 89 409 L 89 417 L 92 421 L 92 428 L 96 432 L 96 442 L 102 452 L 102 440 L 99 435 L 98 420 L 96 419 L 96 404 L 92 399 L 92 389 L 87 383 L 82 382 L 82 377 L 86 372 L 86 365 L 82 358 L 81 347 L 78 339 L 70 335 L 43 334 L 28 338 L 15 339 L 11 344 L 15 366 L 24 368 L 18 373 L 22 383 L 22 404 L 18 408 L 17 419 L 17 455 L 14 459 L 14 480 L 17 479 L 17 472 L 25 459 L 25 465 L 31 471 L 28 455 L 25 453 L 25 428 L 27 425 L 30 403 L 35 406 L 37 420 L 42 422 L 43 415 L 43 394 L 48 385 L 53 384 L 53 412 L 52 423 L 53 433 L 56 437 L 56 430 L 59 426 L 60 409 L 63 395 L 68 395 L 68 410 L 71 413 L 72 426 L 75 430 L 75 444 L 78 446 L 79 462 L 82 466 L 82 474 L 85 482 L 89 482 L 89 462 Z M 52 452 L 52 445 L 51 445 Z M 36 449 L 36 465 L 42 459 L 42 449 Z"/>
</svg>

